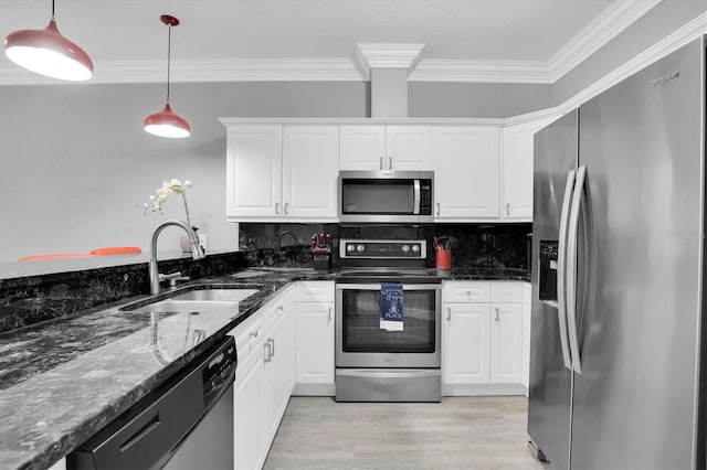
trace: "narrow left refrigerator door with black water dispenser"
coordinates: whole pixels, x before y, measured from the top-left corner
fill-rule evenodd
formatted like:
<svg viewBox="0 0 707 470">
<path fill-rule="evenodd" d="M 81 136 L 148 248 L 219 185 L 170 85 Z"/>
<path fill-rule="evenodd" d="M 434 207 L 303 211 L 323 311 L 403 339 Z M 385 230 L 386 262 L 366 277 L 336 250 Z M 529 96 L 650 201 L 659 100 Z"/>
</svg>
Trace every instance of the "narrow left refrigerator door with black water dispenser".
<svg viewBox="0 0 707 470">
<path fill-rule="evenodd" d="M 550 259 L 556 258 L 568 172 L 577 165 L 577 125 L 572 111 L 535 136 L 528 434 L 556 469 L 569 464 L 571 372 L 562 359 L 558 309 L 550 306 L 557 302 L 557 266 Z"/>
</svg>

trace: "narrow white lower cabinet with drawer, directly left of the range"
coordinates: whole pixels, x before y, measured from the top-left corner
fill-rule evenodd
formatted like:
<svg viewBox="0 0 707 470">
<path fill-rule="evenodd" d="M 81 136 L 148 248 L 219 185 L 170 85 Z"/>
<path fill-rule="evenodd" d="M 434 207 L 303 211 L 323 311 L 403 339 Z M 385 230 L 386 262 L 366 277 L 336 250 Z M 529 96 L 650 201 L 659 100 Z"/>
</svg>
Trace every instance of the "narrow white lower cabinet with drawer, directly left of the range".
<svg viewBox="0 0 707 470">
<path fill-rule="evenodd" d="M 334 282 L 296 287 L 295 395 L 334 396 Z"/>
</svg>

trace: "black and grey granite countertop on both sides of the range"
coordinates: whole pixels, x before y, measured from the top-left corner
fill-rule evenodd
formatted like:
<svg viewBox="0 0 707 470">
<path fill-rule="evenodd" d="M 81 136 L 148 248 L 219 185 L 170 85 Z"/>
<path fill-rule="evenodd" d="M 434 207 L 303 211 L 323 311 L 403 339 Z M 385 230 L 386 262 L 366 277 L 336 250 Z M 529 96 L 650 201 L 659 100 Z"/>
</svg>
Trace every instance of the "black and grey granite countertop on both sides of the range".
<svg viewBox="0 0 707 470">
<path fill-rule="evenodd" d="M 455 268 L 437 271 L 450 280 L 529 280 L 520 269 Z M 312 268 L 253 268 L 201 279 L 176 290 L 199 287 L 256 288 L 232 308 L 159 313 L 159 354 L 149 313 L 122 311 L 148 303 L 139 296 L 0 334 L 0 468 L 48 468 L 129 409 L 197 355 L 210 349 L 295 280 L 335 280 L 335 271 Z M 171 296 L 173 291 L 158 296 Z M 190 330 L 205 332 L 197 344 Z"/>
</svg>

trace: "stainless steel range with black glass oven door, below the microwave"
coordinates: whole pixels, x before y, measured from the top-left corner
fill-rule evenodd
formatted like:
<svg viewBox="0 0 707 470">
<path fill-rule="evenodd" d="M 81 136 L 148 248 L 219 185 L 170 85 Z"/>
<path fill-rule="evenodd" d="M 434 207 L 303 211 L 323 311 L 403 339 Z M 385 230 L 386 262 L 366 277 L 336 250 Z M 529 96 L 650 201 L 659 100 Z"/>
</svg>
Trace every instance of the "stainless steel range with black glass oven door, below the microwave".
<svg viewBox="0 0 707 470">
<path fill-rule="evenodd" d="M 440 402 L 441 279 L 425 241 L 341 239 L 337 402 Z M 381 288 L 402 286 L 401 331 L 382 328 Z"/>
</svg>

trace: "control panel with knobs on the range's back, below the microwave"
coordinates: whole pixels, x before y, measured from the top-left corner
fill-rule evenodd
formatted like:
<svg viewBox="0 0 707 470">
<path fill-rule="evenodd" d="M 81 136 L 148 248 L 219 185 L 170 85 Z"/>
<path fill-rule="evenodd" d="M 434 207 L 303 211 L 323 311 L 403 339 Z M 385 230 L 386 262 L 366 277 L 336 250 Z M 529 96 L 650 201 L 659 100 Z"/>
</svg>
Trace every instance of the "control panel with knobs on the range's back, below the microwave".
<svg viewBox="0 0 707 470">
<path fill-rule="evenodd" d="M 428 256 L 423 239 L 341 239 L 341 258 L 424 259 Z"/>
</svg>

